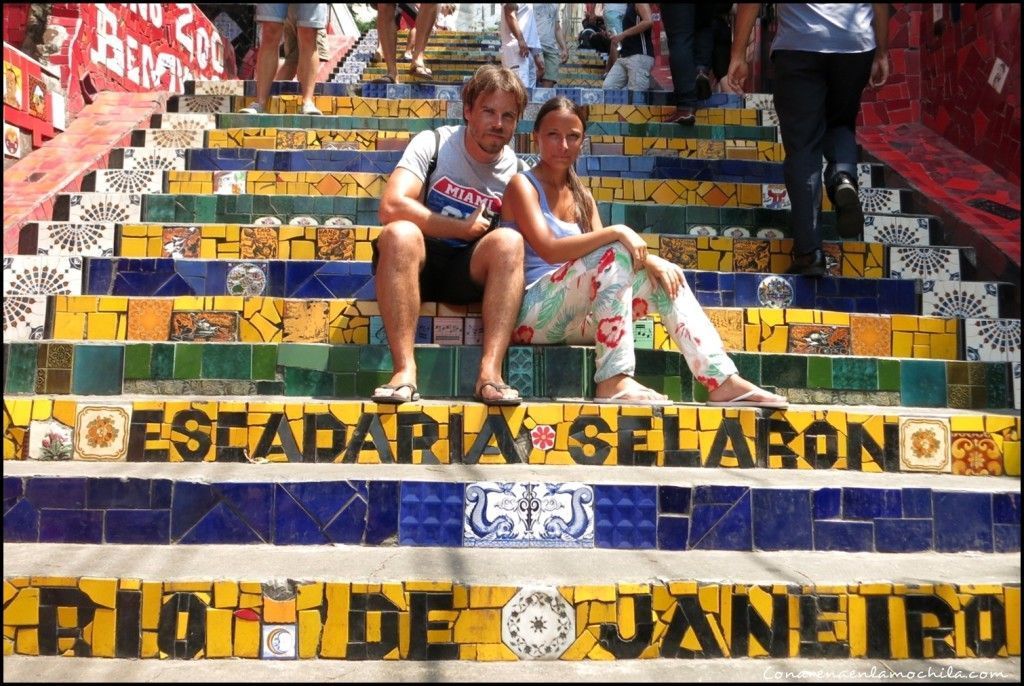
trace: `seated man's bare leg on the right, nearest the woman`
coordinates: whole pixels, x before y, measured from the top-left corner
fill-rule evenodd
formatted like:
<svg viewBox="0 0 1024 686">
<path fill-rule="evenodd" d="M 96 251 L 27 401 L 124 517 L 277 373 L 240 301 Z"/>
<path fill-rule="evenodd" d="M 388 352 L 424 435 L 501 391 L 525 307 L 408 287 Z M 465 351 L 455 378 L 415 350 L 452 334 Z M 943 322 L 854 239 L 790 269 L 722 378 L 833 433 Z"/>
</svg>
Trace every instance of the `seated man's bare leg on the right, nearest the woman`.
<svg viewBox="0 0 1024 686">
<path fill-rule="evenodd" d="M 483 349 L 476 388 L 488 381 L 504 383 L 502 361 L 512 339 L 524 290 L 522 261 L 522 235 L 508 228 L 489 231 L 473 251 L 469 272 L 474 282 L 483 284 Z M 489 387 L 483 393 L 485 397 L 502 396 Z"/>
</svg>

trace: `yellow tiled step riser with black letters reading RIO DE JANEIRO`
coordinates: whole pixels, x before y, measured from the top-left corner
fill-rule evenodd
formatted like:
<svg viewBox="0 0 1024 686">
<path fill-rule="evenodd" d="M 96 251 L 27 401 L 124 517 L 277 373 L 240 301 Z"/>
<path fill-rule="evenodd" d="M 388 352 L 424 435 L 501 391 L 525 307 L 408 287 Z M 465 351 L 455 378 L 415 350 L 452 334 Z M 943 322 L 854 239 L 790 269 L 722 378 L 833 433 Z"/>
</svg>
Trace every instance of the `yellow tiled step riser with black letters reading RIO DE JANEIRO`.
<svg viewBox="0 0 1024 686">
<path fill-rule="evenodd" d="M 1020 588 L 1000 584 L 4 581 L 12 652 L 26 655 L 360 663 L 1020 655 Z M 624 638 L 622 627 L 634 633 Z"/>
</svg>

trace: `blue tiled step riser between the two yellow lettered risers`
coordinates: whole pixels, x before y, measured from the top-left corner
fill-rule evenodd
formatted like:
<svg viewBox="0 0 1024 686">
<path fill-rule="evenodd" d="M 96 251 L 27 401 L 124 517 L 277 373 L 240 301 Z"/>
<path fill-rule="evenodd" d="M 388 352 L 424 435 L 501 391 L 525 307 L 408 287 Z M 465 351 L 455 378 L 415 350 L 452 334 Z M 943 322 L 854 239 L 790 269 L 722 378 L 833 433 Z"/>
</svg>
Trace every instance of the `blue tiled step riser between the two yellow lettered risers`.
<svg viewBox="0 0 1024 686">
<path fill-rule="evenodd" d="M 4 479 L 5 543 L 1020 552 L 1020 494 L 580 482 Z"/>
</svg>

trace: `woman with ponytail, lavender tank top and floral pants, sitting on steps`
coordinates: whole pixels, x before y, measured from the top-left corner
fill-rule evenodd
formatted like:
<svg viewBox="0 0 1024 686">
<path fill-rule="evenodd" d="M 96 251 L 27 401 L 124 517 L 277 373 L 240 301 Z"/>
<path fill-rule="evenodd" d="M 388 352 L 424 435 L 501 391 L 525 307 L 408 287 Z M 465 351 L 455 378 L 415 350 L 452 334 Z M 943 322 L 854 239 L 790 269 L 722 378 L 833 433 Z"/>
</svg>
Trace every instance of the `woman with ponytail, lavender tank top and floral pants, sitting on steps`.
<svg viewBox="0 0 1024 686">
<path fill-rule="evenodd" d="M 593 343 L 595 401 L 671 404 L 634 378 L 633 318 L 657 312 L 710 405 L 785 408 L 736 373 L 683 270 L 647 254 L 628 226 L 602 227 L 597 204 L 575 173 L 587 109 L 565 97 L 544 103 L 534 125 L 540 162 L 505 189 L 502 217 L 526 243 L 526 293 L 513 343 Z"/>
</svg>

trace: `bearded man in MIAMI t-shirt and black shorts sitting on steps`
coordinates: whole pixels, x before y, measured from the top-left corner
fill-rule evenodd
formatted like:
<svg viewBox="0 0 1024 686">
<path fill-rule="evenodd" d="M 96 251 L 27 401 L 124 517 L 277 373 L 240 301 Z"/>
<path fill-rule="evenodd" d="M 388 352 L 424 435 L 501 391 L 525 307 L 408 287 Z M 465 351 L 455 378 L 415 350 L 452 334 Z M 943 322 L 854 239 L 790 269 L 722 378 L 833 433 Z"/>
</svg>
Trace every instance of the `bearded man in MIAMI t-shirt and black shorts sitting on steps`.
<svg viewBox="0 0 1024 686">
<path fill-rule="evenodd" d="M 418 134 L 388 179 L 384 224 L 374 245 L 377 302 L 393 376 L 376 402 L 419 399 L 414 340 L 421 301 L 482 301 L 483 346 L 476 399 L 518 404 L 502 380 L 502 361 L 523 294 L 522 237 L 498 226 L 502 194 L 518 161 L 508 143 L 526 109 L 526 90 L 510 70 L 485 65 L 462 90 L 462 126 Z"/>
</svg>

